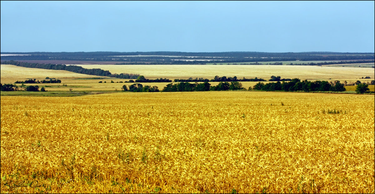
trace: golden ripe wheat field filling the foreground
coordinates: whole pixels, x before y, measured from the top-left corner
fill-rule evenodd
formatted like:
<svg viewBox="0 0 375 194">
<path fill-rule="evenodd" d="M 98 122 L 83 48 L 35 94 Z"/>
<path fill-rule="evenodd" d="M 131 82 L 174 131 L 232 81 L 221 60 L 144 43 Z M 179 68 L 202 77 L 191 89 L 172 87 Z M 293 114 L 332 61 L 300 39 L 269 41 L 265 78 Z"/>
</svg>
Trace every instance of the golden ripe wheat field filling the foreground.
<svg viewBox="0 0 375 194">
<path fill-rule="evenodd" d="M 2 96 L 1 193 L 374 193 L 374 137 L 372 95 Z"/>
</svg>

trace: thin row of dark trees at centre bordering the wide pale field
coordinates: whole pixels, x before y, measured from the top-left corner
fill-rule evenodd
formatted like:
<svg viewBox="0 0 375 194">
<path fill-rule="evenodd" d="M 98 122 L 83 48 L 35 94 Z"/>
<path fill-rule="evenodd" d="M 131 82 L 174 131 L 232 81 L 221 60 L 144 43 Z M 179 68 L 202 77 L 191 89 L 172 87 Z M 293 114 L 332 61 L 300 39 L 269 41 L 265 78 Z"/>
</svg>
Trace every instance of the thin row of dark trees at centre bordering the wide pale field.
<svg viewBox="0 0 375 194">
<path fill-rule="evenodd" d="M 215 76 L 213 79 L 203 79 L 203 78 L 189 78 L 189 79 L 174 79 L 174 82 L 266 82 L 267 80 L 262 78 L 249 78 L 246 79 L 243 77 L 243 79 L 237 79 L 237 76 L 232 77 L 226 77 L 226 76 Z M 281 79 L 280 76 L 271 76 L 271 79 L 269 81 L 291 81 L 291 79 Z"/>
</svg>

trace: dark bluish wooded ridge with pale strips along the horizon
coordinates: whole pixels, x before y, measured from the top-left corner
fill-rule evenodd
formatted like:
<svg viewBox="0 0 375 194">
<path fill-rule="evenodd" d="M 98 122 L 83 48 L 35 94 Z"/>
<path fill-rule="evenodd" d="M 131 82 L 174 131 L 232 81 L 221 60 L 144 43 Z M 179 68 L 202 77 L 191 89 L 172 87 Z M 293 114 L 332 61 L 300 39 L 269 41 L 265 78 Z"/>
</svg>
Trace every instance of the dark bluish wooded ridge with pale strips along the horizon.
<svg viewBox="0 0 375 194">
<path fill-rule="evenodd" d="M 374 60 L 374 53 L 349 52 L 2 52 L 1 60 L 118 61 L 117 64 L 206 64 L 261 61 Z M 203 60 L 203 61 L 185 61 Z"/>
</svg>

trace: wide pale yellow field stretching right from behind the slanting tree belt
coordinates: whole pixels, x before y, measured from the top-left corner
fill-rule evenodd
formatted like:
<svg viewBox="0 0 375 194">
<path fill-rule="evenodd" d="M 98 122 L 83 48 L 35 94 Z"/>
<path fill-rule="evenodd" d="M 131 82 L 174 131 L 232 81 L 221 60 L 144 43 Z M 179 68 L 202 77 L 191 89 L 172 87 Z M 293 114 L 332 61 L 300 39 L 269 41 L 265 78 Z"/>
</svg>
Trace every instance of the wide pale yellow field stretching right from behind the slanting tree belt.
<svg viewBox="0 0 375 194">
<path fill-rule="evenodd" d="M 272 75 L 281 78 L 337 79 L 350 80 L 370 76 L 374 78 L 373 68 L 323 67 L 323 66 L 272 66 L 272 65 L 78 65 L 87 69 L 100 68 L 111 73 L 133 73 L 147 79 L 168 78 L 188 79 L 227 76 L 237 78 L 270 79 Z"/>
</svg>

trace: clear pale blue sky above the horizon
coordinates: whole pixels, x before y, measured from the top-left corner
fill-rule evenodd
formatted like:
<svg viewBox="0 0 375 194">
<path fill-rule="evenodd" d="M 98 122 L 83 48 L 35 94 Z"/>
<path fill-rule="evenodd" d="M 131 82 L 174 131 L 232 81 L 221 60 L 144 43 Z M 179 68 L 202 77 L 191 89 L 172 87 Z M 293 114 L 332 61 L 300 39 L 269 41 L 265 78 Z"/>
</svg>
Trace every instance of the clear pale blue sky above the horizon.
<svg viewBox="0 0 375 194">
<path fill-rule="evenodd" d="M 1 1 L 1 52 L 374 52 L 374 1 Z"/>
</svg>

